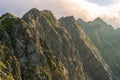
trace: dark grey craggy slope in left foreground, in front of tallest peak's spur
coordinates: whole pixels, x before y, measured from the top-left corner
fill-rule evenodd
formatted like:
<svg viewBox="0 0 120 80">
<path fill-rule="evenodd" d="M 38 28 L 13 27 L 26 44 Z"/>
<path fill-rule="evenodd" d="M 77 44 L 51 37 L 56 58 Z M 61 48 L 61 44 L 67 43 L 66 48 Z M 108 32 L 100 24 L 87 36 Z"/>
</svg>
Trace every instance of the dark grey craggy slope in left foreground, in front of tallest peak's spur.
<svg viewBox="0 0 120 80">
<path fill-rule="evenodd" d="M 19 18 L 6 14 L 2 17 L 2 80 L 11 80 L 9 77 L 13 80 L 68 80 L 64 66 L 38 31 Z"/>
</svg>

